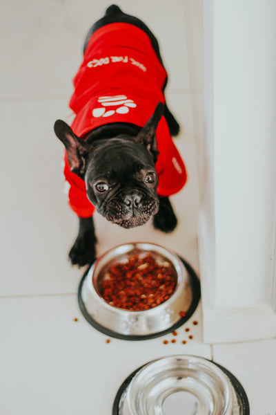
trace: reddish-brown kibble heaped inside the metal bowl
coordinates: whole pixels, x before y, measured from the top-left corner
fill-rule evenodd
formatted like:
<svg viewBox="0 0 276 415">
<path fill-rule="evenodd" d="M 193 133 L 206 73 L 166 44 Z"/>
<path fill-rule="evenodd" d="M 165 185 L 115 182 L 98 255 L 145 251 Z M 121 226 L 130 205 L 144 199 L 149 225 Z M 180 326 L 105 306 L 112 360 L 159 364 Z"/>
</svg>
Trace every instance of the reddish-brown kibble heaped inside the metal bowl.
<svg viewBox="0 0 276 415">
<path fill-rule="evenodd" d="M 143 311 L 159 306 L 175 290 L 177 275 L 170 261 L 132 254 L 112 261 L 106 268 L 99 292 L 111 306 Z"/>
</svg>

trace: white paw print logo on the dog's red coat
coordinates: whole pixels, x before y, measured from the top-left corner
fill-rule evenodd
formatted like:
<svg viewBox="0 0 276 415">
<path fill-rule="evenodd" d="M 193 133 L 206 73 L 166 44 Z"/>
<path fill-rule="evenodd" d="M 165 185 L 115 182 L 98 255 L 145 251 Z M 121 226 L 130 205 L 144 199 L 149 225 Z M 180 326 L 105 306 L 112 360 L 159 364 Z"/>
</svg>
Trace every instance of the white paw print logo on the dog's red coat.
<svg viewBox="0 0 276 415">
<path fill-rule="evenodd" d="M 101 107 L 92 110 L 92 116 L 110 117 L 113 114 L 127 114 L 130 108 L 135 108 L 137 105 L 133 100 L 129 100 L 126 95 L 113 95 L 98 98 Z"/>
</svg>

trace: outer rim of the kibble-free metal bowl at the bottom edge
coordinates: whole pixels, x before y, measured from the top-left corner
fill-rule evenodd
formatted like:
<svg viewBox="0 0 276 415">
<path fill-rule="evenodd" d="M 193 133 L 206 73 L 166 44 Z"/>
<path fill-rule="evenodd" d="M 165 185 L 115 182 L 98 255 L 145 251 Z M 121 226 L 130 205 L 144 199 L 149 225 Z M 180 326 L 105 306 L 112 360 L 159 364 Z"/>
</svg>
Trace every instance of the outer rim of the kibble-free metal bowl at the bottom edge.
<svg viewBox="0 0 276 415">
<path fill-rule="evenodd" d="M 238 414 L 238 415 L 249 415 L 250 414 L 249 402 L 248 402 L 248 398 L 246 396 L 246 392 L 244 390 L 244 387 L 239 382 L 239 380 L 237 380 L 237 378 L 230 371 L 228 371 L 228 369 L 226 369 L 225 367 L 219 365 L 216 362 L 213 362 L 212 360 L 208 360 L 206 358 L 201 358 L 200 356 L 172 355 L 172 356 L 165 356 L 163 358 L 158 358 L 158 359 L 155 359 L 155 360 L 151 360 L 150 362 L 147 362 L 145 365 L 142 365 L 138 369 L 135 369 L 135 371 L 133 371 L 132 374 L 130 374 L 128 376 L 128 378 L 126 378 L 124 380 L 124 382 L 121 384 L 121 386 L 119 387 L 119 389 L 117 391 L 117 395 L 115 396 L 115 400 L 113 402 L 112 415 L 120 415 L 121 414 L 121 411 L 120 411 L 121 405 L 124 403 L 124 400 L 127 400 L 128 387 L 132 383 L 132 380 L 135 380 L 135 377 L 137 378 L 137 376 L 139 376 L 140 373 L 142 373 L 145 368 L 147 369 L 147 367 L 150 367 L 150 365 L 154 364 L 155 362 L 158 362 L 159 360 L 164 360 L 164 359 L 168 359 L 168 358 L 177 358 L 177 357 L 187 358 L 187 359 L 190 358 L 190 359 L 194 359 L 194 360 L 201 360 L 201 361 L 205 361 L 206 363 L 208 362 L 208 364 L 210 364 L 210 365 L 215 365 L 215 367 L 219 371 L 222 371 L 223 374 L 226 376 L 226 379 L 227 379 L 228 383 L 232 387 L 232 392 L 235 393 L 234 400 L 235 400 L 236 404 L 235 404 L 233 414 Z M 214 371 L 215 371 L 215 367 L 212 368 Z M 131 412 L 128 412 L 128 414 L 131 414 Z"/>
</svg>

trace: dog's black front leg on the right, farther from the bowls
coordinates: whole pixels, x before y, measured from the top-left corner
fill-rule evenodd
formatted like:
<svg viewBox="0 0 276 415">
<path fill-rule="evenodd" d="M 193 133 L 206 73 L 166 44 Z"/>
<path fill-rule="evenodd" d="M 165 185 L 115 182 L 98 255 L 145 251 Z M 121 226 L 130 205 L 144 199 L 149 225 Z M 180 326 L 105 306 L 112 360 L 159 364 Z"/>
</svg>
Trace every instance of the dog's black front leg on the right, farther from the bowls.
<svg viewBox="0 0 276 415">
<path fill-rule="evenodd" d="M 168 197 L 159 196 L 159 211 L 153 216 L 153 226 L 162 232 L 172 232 L 177 227 L 177 216 Z"/>
</svg>

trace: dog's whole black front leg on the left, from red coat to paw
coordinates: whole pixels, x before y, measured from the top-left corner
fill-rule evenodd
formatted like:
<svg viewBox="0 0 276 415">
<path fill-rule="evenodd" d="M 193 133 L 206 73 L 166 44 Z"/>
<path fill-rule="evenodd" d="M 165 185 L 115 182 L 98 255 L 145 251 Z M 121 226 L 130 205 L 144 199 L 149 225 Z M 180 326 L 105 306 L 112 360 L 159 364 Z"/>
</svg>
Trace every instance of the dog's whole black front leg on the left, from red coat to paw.
<svg viewBox="0 0 276 415">
<path fill-rule="evenodd" d="M 79 218 L 79 234 L 69 252 L 72 265 L 92 264 L 96 257 L 96 242 L 93 218 Z"/>
</svg>

